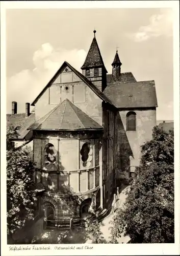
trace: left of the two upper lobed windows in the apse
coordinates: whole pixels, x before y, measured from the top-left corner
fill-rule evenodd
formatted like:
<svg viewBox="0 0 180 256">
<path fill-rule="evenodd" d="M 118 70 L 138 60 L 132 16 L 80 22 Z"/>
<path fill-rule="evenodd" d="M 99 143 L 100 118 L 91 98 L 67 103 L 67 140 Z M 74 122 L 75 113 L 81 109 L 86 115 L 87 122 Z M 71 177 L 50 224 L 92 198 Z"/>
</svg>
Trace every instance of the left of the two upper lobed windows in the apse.
<svg viewBox="0 0 180 256">
<path fill-rule="evenodd" d="M 57 169 L 57 151 L 52 143 L 47 143 L 44 148 L 44 168 L 45 170 Z"/>
</svg>

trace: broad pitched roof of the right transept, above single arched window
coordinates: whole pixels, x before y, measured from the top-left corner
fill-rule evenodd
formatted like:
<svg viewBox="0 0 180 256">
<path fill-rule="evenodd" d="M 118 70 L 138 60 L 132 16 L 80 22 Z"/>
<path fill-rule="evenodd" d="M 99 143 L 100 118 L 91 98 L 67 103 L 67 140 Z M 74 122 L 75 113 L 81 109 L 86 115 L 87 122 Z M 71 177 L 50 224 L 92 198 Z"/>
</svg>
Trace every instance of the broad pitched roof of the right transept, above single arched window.
<svg viewBox="0 0 180 256">
<path fill-rule="evenodd" d="M 157 107 L 155 81 L 108 84 L 104 94 L 116 108 Z"/>
</svg>

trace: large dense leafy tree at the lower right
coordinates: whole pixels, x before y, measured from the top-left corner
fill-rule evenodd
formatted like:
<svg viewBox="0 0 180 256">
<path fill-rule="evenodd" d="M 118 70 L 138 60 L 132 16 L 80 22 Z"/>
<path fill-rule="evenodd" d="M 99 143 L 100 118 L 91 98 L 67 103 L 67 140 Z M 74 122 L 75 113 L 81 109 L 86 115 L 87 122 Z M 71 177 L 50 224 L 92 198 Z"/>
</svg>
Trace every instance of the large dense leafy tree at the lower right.
<svg viewBox="0 0 180 256">
<path fill-rule="evenodd" d="M 111 243 L 124 231 L 131 243 L 174 243 L 174 135 L 154 127 L 142 145 L 123 209 L 114 216 Z"/>
</svg>

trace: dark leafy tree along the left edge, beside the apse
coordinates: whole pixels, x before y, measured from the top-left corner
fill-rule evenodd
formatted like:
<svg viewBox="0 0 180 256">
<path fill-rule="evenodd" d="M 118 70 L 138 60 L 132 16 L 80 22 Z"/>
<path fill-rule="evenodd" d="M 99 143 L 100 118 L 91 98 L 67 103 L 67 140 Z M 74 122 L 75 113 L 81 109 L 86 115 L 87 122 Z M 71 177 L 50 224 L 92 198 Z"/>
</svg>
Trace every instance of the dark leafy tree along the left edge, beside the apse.
<svg viewBox="0 0 180 256">
<path fill-rule="evenodd" d="M 17 136 L 13 126 L 7 130 L 7 231 L 9 236 L 34 218 L 36 201 L 28 147 L 12 147 L 11 139 Z M 16 137 L 17 138 L 17 137 Z"/>
</svg>

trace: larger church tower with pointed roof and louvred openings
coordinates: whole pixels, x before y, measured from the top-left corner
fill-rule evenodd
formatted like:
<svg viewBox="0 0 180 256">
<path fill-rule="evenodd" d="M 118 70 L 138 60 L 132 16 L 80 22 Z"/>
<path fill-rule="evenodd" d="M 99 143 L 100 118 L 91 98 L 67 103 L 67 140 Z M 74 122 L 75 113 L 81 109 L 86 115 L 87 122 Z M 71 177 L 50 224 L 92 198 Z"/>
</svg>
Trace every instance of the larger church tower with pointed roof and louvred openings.
<svg viewBox="0 0 180 256">
<path fill-rule="evenodd" d="M 94 38 L 92 40 L 89 52 L 86 56 L 85 62 L 81 67 L 83 75 L 92 81 L 93 84 L 99 89 L 99 91 L 104 91 L 107 85 L 106 74 L 108 73 L 102 56 L 100 54 L 99 47 L 97 45 L 94 30 Z"/>
</svg>

